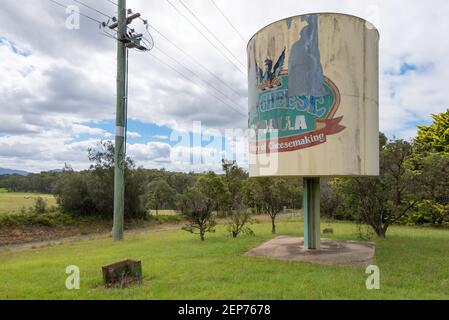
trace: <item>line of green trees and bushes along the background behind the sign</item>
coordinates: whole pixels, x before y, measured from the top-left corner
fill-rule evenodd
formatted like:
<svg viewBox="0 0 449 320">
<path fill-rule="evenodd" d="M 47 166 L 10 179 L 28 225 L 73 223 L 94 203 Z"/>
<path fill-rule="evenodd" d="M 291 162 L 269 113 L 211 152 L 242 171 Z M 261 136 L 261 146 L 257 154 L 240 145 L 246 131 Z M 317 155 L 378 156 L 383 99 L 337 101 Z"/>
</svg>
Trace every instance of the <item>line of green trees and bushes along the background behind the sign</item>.
<svg viewBox="0 0 449 320">
<path fill-rule="evenodd" d="M 380 134 L 380 176 L 322 180 L 322 215 L 369 225 L 385 237 L 392 224 L 449 226 L 449 110 L 419 127 L 411 142 Z M 0 176 L 0 188 L 53 193 L 59 207 L 73 215 L 110 218 L 113 212 L 114 146 L 101 142 L 89 149 L 91 166 L 75 172 L 43 172 L 26 177 Z M 223 160 L 222 172 L 202 174 L 137 168 L 125 161 L 127 218 L 148 212 L 180 212 L 185 230 L 202 240 L 214 230 L 216 217 L 229 221 L 232 236 L 249 233 L 251 215 L 266 214 L 276 232 L 284 208 L 302 207 L 302 179 L 249 178 L 235 162 Z"/>
</svg>

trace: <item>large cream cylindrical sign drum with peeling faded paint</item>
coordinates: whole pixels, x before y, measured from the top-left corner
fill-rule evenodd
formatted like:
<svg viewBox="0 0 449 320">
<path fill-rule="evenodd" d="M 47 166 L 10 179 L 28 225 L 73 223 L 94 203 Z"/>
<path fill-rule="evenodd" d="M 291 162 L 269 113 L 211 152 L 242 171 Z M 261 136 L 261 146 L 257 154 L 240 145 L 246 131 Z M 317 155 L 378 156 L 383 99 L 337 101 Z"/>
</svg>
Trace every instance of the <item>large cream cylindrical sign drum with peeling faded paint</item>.
<svg viewBox="0 0 449 320">
<path fill-rule="evenodd" d="M 365 20 L 332 13 L 250 40 L 251 176 L 379 174 L 378 43 Z"/>
</svg>

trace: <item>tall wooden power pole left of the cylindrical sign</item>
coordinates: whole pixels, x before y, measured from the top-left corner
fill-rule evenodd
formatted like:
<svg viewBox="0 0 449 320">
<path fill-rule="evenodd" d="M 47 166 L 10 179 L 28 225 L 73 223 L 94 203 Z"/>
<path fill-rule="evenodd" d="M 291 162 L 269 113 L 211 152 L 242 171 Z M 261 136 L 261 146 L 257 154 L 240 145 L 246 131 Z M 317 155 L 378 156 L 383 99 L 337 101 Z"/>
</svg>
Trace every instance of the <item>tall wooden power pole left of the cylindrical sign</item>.
<svg viewBox="0 0 449 320">
<path fill-rule="evenodd" d="M 126 74 L 127 48 L 125 45 L 126 29 L 126 0 L 118 0 L 117 23 L 117 114 L 115 133 L 115 173 L 114 173 L 114 227 L 112 237 L 114 241 L 123 240 L 125 220 L 125 135 L 126 135 Z"/>
</svg>

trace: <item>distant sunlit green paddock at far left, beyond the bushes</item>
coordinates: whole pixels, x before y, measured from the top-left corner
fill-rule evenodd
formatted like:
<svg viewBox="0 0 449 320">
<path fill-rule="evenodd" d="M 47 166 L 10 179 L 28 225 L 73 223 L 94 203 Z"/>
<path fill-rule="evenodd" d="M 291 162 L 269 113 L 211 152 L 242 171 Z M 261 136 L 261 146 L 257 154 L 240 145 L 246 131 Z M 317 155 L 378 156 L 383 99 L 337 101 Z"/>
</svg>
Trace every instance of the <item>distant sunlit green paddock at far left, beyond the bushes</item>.
<svg viewBox="0 0 449 320">
<path fill-rule="evenodd" d="M 42 197 L 49 207 L 56 205 L 56 199 L 49 194 L 20 193 L 0 191 L 0 214 L 18 213 L 22 208 L 28 209 L 34 205 L 36 198 Z"/>
</svg>

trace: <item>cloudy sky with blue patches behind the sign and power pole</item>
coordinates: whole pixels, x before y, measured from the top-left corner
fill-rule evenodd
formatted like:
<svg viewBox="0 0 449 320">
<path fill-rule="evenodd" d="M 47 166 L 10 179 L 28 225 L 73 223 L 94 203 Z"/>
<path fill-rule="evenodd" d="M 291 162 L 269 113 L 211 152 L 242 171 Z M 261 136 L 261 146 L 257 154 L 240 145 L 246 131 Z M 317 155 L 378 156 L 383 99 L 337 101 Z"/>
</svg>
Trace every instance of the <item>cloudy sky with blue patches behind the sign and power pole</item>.
<svg viewBox="0 0 449 320">
<path fill-rule="evenodd" d="M 115 1 L 82 0 L 104 15 L 74 0 L 57 1 L 77 5 L 99 21 L 116 14 Z M 215 4 L 238 32 L 211 0 L 128 0 L 128 7 L 141 12 L 159 32 L 150 29 L 153 56 L 130 52 L 128 153 L 138 165 L 183 171 L 217 168 L 213 161 L 191 166 L 173 161 L 174 146 L 182 150 L 176 143 L 182 134 L 177 132 L 197 131 L 198 121 L 210 134 L 245 129 L 246 42 L 261 27 L 297 14 L 348 13 L 379 29 L 380 126 L 388 136 L 411 139 L 417 125 L 429 123 L 430 114 L 449 107 L 447 0 L 215 0 Z M 67 162 L 84 169 L 87 148 L 113 139 L 114 40 L 85 17 L 79 30 L 69 30 L 67 17 L 63 7 L 49 0 L 2 1 L 0 167 L 39 172 L 62 168 Z M 133 27 L 145 31 L 140 20 Z M 207 152 L 221 150 L 220 144 L 228 140 L 210 141 L 214 142 L 203 143 Z"/>
</svg>

